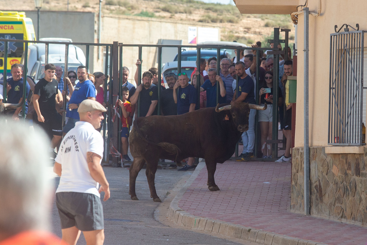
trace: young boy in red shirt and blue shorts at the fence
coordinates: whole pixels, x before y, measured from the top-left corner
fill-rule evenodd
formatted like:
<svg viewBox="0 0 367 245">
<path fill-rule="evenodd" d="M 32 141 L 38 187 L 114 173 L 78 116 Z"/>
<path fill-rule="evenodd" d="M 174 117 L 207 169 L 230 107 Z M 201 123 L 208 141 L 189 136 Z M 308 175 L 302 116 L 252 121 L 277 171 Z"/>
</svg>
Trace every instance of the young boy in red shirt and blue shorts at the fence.
<svg viewBox="0 0 367 245">
<path fill-rule="evenodd" d="M 121 148 L 122 148 L 122 155 L 123 161 L 131 161 L 130 157 L 127 155 L 127 151 L 129 148 L 128 137 L 129 137 L 129 122 L 127 118 L 131 113 L 131 104 L 127 101 L 129 97 L 129 89 L 125 86 L 121 89 L 121 99 L 119 100 L 119 105 L 121 107 L 122 115 L 121 115 L 121 122 L 122 122 L 122 129 L 121 129 Z"/>
</svg>

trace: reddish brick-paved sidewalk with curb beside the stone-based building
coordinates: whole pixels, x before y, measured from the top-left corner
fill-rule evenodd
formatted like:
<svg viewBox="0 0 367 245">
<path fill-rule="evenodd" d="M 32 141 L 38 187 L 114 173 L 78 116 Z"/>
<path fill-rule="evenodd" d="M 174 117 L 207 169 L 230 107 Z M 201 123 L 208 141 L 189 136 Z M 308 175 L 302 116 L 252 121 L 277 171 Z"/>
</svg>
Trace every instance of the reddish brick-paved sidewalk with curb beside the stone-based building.
<svg viewBox="0 0 367 245">
<path fill-rule="evenodd" d="M 197 177 L 178 206 L 193 216 L 286 237 L 330 245 L 366 245 L 367 228 L 289 211 L 290 168 L 289 163 L 227 161 L 218 164 L 215 173 L 221 191 L 212 192 L 207 188 L 205 163 L 200 163 Z"/>
</svg>

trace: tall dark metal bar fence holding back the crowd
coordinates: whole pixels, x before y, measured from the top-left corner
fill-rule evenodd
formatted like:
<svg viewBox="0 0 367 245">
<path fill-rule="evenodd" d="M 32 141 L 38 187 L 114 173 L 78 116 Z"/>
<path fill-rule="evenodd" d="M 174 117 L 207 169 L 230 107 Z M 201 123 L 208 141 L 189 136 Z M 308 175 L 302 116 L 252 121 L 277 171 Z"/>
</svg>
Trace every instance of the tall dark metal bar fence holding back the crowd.
<svg viewBox="0 0 367 245">
<path fill-rule="evenodd" d="M 105 162 L 109 161 L 108 155 L 110 155 L 110 151 L 109 149 L 111 149 L 111 147 L 115 146 L 117 149 L 120 149 L 120 138 L 118 137 L 118 131 L 120 128 L 120 121 L 116 120 L 115 122 L 112 123 L 111 118 L 112 118 L 112 113 L 114 111 L 115 108 L 113 108 L 113 105 L 115 104 L 117 98 L 120 98 L 120 89 L 121 89 L 121 85 L 122 85 L 122 76 L 120 76 L 120 79 L 112 79 L 112 78 L 118 78 L 119 76 L 119 71 L 121 71 L 121 68 L 123 66 L 123 62 L 122 62 L 122 57 L 123 57 L 123 49 L 125 47 L 138 47 L 138 54 L 137 57 L 139 58 L 139 60 L 141 60 L 142 57 L 142 52 L 143 52 L 143 48 L 146 47 L 155 47 L 158 50 L 158 54 L 157 54 L 157 58 L 158 58 L 158 86 L 161 86 L 160 81 L 162 80 L 161 77 L 161 68 L 162 68 L 162 64 L 161 64 L 161 55 L 162 55 L 162 48 L 163 47 L 169 47 L 169 48 L 177 48 L 177 53 L 178 53 L 178 73 L 181 72 L 181 52 L 182 52 L 182 48 L 184 47 L 193 47 L 193 46 L 183 46 L 183 45 L 141 45 L 141 44 L 123 44 L 123 43 L 118 43 L 118 42 L 113 42 L 113 44 L 96 44 L 96 43 L 65 43 L 65 42 L 44 42 L 44 41 L 23 41 L 23 40 L 1 40 L 1 42 L 4 42 L 4 46 L 5 46 L 5 50 L 7 50 L 7 45 L 8 42 L 23 42 L 25 45 L 25 52 L 24 52 L 24 71 L 23 74 L 27 73 L 27 61 L 28 61 L 28 46 L 33 44 L 33 43 L 44 43 L 46 45 L 46 61 L 45 64 L 47 64 L 48 62 L 48 46 L 49 44 L 63 44 L 65 45 L 65 69 L 64 69 L 64 77 L 67 76 L 67 71 L 68 71 L 68 52 L 69 52 L 69 46 L 70 45 L 77 45 L 77 46 L 86 46 L 86 66 L 88 67 L 89 64 L 89 54 L 90 54 L 90 47 L 94 47 L 94 46 L 101 46 L 101 47 L 105 47 L 106 49 L 106 59 L 105 59 L 105 76 L 106 76 L 106 80 L 105 80 L 105 87 L 107 87 L 107 82 L 108 82 L 108 75 L 110 78 L 110 83 L 109 83 L 109 91 L 107 91 L 105 89 L 104 91 L 104 98 L 105 98 L 105 102 L 106 104 L 109 104 L 109 109 L 107 110 L 107 112 L 104 114 L 105 119 L 103 121 L 103 137 L 105 138 L 105 149 L 104 149 L 104 156 L 103 159 Z M 274 40 L 273 42 L 275 43 L 279 43 L 279 35 L 277 36 L 277 40 Z M 201 49 L 204 48 L 211 48 L 211 49 L 217 49 L 217 57 L 220 57 L 220 51 L 221 49 L 236 49 L 237 50 L 237 54 L 240 53 L 240 50 L 256 50 L 257 51 L 257 57 L 259 57 L 259 51 L 265 51 L 265 50 L 269 50 L 269 48 L 251 48 L 251 47 L 247 47 L 247 48 L 243 48 L 243 47 L 228 47 L 228 46 L 195 46 L 196 50 L 197 50 L 197 60 L 200 60 L 200 52 Z M 277 48 L 273 48 L 270 50 L 274 50 L 277 51 Z M 237 57 L 237 61 L 239 61 L 239 57 Z M 275 62 L 279 62 L 279 54 L 275 54 L 274 55 L 274 61 Z M 260 62 L 259 59 L 257 59 L 257 69 L 256 69 L 256 102 L 258 104 L 259 102 L 259 66 L 260 66 Z M 112 68 L 112 69 L 111 69 Z M 6 73 L 7 73 L 7 52 L 4 52 L 4 83 L 6 81 Z M 197 70 L 200 72 L 200 62 L 197 65 Z M 107 72 L 109 71 L 109 74 L 107 74 Z M 217 62 L 217 74 L 219 75 L 219 71 L 220 71 L 220 64 L 219 62 Z M 141 65 L 138 67 L 138 84 L 141 84 Z M 121 75 L 121 74 L 120 74 Z M 275 66 L 274 68 L 274 74 L 273 74 L 273 87 L 274 89 L 274 96 L 277 96 L 277 93 L 279 91 L 279 80 L 277 79 L 279 78 L 279 67 Z M 200 78 L 198 77 L 197 80 L 199 81 Z M 238 84 L 238 78 L 237 78 L 237 84 Z M 23 83 L 23 86 L 26 86 L 26 83 Z M 64 90 L 66 90 L 67 84 L 64 83 Z M 238 86 L 237 86 L 238 87 Z M 197 90 L 198 90 L 198 101 L 200 101 L 199 98 L 199 94 L 200 94 L 200 86 L 197 86 Z M 158 114 L 160 114 L 160 89 L 157 90 L 158 91 Z M 6 86 L 4 86 L 4 98 L 6 98 Z M 25 100 L 25 89 L 23 89 L 23 100 Z M 237 91 L 238 94 L 238 91 Z M 109 96 L 107 96 L 109 95 Z M 109 97 L 109 101 L 107 100 L 107 97 Z M 217 101 L 218 101 L 218 97 L 219 97 L 219 83 L 217 82 Z M 64 100 L 64 104 L 63 104 L 63 109 L 66 109 L 66 95 L 63 98 Z M 108 103 L 107 103 L 108 102 Z M 138 102 L 138 107 L 139 107 L 140 102 Z M 23 105 L 23 118 L 25 118 L 24 115 L 24 107 L 25 105 Z M 275 100 L 274 101 L 274 106 L 273 106 L 273 115 L 274 115 L 274 121 L 277 122 L 277 119 L 279 118 L 278 115 L 278 101 Z M 121 113 L 121 112 L 120 112 Z M 106 135 L 107 130 L 106 130 L 106 118 L 108 118 L 108 135 Z M 65 123 L 65 112 L 64 112 L 64 123 Z M 257 122 L 257 119 L 256 119 Z M 256 127 L 258 127 L 257 123 L 255 124 Z M 278 125 L 277 123 L 273 123 L 273 156 L 277 156 L 277 138 L 278 138 Z M 257 133 L 258 130 L 255 128 L 255 133 L 256 133 L 256 143 L 255 143 L 255 152 L 257 152 L 258 150 L 258 141 L 259 141 L 259 134 Z M 238 156 L 238 147 L 236 148 L 236 156 Z M 116 160 L 116 158 L 113 158 L 114 161 L 118 161 Z"/>
</svg>

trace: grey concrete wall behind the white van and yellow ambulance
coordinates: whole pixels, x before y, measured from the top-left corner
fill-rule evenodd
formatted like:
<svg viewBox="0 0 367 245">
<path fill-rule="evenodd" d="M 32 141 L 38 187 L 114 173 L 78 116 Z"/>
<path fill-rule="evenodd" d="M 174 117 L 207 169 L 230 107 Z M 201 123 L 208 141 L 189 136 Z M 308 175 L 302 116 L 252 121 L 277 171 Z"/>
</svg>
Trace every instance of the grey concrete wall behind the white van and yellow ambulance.
<svg viewBox="0 0 367 245">
<path fill-rule="evenodd" d="M 37 11 L 25 11 L 33 21 L 37 37 Z M 95 14 L 92 12 L 40 11 L 40 38 L 64 37 L 76 43 L 97 42 Z M 85 46 L 79 46 L 86 53 Z M 90 48 L 90 71 L 94 70 L 94 51 Z"/>
</svg>

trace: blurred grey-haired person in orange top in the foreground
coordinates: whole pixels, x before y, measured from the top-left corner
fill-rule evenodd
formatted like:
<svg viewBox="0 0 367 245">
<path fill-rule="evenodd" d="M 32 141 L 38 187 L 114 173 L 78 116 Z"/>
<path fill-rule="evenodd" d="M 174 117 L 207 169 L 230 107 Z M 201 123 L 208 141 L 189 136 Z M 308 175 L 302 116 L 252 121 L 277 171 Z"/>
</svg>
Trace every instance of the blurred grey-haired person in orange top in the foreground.
<svg viewBox="0 0 367 245">
<path fill-rule="evenodd" d="M 0 244 L 66 245 L 47 231 L 53 186 L 48 137 L 37 126 L 0 127 Z"/>
</svg>

